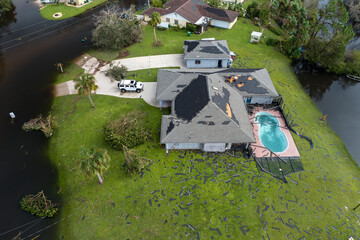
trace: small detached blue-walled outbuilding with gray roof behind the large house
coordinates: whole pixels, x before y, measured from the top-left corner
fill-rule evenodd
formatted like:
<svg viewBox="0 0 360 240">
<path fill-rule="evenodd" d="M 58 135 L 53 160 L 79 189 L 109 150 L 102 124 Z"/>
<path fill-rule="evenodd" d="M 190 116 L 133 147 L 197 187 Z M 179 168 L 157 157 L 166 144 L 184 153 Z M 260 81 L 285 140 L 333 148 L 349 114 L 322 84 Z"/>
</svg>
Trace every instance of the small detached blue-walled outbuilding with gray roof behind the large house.
<svg viewBox="0 0 360 240">
<path fill-rule="evenodd" d="M 185 40 L 187 68 L 227 68 L 232 64 L 226 40 Z"/>
</svg>

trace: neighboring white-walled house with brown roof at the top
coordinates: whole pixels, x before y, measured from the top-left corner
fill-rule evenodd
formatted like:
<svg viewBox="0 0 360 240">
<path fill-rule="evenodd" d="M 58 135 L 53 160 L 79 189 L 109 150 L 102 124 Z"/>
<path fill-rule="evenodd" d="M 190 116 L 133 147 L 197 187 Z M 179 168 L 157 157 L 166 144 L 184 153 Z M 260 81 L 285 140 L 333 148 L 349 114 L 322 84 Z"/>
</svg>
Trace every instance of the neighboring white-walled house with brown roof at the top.
<svg viewBox="0 0 360 240">
<path fill-rule="evenodd" d="M 209 25 L 230 29 L 239 16 L 235 11 L 210 7 L 203 0 L 171 0 L 164 7 L 146 9 L 142 12 L 144 20 L 149 21 L 152 13 L 158 12 L 162 23 L 180 27 L 194 24 L 202 33 Z"/>
</svg>

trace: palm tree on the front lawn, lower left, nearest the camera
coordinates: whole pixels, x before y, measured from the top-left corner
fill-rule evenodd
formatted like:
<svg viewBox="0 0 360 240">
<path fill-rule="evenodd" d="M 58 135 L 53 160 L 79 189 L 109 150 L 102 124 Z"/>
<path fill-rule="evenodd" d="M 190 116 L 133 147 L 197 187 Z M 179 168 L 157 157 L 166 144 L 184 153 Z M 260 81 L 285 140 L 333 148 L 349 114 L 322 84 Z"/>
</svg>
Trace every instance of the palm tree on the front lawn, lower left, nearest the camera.
<svg viewBox="0 0 360 240">
<path fill-rule="evenodd" d="M 98 149 L 95 151 L 91 148 L 88 151 L 85 147 L 82 147 L 81 155 L 82 158 L 78 162 L 80 170 L 88 177 L 96 175 L 100 184 L 103 184 L 104 180 L 101 176 L 109 168 L 111 159 L 106 149 Z"/>
</svg>

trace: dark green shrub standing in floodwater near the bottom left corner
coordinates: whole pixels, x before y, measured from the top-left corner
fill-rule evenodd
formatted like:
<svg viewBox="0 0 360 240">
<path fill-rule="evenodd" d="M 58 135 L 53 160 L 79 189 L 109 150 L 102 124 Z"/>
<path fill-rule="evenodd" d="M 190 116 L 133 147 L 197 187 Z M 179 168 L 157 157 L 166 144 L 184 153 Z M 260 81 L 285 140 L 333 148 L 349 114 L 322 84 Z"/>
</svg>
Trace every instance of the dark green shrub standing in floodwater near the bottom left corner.
<svg viewBox="0 0 360 240">
<path fill-rule="evenodd" d="M 43 191 L 36 195 L 26 195 L 20 205 L 21 209 L 42 218 L 53 217 L 58 212 L 56 205 L 46 198 Z"/>
</svg>

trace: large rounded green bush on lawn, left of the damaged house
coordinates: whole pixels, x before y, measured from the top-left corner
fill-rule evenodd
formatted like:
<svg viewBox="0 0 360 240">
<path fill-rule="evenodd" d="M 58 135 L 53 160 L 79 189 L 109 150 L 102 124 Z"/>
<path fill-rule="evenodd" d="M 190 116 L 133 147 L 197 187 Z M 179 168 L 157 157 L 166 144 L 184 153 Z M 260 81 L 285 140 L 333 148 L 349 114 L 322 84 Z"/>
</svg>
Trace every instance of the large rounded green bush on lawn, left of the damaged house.
<svg viewBox="0 0 360 240">
<path fill-rule="evenodd" d="M 148 137 L 145 123 L 145 114 L 140 111 L 109 121 L 104 126 L 105 141 L 117 150 L 122 150 L 123 146 L 133 148 L 141 145 Z"/>
</svg>

